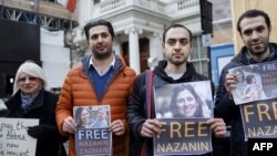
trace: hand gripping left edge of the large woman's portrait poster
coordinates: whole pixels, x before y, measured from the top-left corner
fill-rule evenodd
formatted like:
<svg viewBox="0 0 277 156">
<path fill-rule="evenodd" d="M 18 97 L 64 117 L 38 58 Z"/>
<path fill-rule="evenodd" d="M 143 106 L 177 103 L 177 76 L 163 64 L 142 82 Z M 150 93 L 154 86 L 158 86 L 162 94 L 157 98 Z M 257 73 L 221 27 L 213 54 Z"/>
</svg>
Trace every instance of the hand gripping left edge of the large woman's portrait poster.
<svg viewBox="0 0 277 156">
<path fill-rule="evenodd" d="M 153 137 L 154 133 L 161 133 L 162 125 L 157 119 L 146 119 L 143 123 L 141 135 L 143 137 Z"/>
</svg>

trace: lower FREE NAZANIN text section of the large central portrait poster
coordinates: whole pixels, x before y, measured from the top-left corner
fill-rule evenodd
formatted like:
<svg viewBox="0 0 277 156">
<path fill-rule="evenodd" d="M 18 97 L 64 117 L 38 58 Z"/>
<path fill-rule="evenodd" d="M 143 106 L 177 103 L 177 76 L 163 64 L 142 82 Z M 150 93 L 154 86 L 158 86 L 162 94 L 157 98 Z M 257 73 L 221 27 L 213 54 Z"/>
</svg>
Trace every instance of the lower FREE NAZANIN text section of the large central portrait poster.
<svg viewBox="0 0 277 156">
<path fill-rule="evenodd" d="M 160 118 L 162 129 L 154 135 L 154 155 L 201 155 L 212 148 L 206 118 Z"/>
</svg>

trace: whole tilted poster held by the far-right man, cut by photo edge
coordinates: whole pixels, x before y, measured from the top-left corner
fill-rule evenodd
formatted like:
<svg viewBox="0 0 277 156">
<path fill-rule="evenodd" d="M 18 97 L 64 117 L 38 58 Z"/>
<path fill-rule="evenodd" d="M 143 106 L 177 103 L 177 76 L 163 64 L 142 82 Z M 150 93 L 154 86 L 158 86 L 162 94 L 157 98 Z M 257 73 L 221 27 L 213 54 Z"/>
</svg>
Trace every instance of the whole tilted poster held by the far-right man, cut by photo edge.
<svg viewBox="0 0 277 156">
<path fill-rule="evenodd" d="M 239 105 L 245 139 L 277 138 L 277 62 L 230 69 L 237 77 L 233 98 Z"/>
</svg>

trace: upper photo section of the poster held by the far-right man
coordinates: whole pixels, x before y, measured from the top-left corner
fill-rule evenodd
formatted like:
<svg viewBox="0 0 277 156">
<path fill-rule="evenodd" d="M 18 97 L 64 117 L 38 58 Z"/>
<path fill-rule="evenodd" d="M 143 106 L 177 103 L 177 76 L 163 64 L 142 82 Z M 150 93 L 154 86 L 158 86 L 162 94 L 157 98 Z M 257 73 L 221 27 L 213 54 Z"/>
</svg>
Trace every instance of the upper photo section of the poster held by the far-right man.
<svg viewBox="0 0 277 156">
<path fill-rule="evenodd" d="M 236 75 L 233 90 L 235 104 L 275 98 L 277 96 L 277 62 L 257 63 L 229 69 Z"/>
</svg>

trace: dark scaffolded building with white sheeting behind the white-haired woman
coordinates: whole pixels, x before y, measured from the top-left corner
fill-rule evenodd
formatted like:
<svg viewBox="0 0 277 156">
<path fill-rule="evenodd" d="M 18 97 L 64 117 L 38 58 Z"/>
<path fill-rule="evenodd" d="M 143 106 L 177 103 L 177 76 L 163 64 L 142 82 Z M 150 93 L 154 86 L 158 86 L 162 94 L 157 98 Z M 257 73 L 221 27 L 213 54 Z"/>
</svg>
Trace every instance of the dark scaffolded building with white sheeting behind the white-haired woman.
<svg viewBox="0 0 277 156">
<path fill-rule="evenodd" d="M 1 0 L 0 98 L 12 94 L 16 72 L 27 60 L 42 66 L 50 89 L 61 87 L 70 70 L 64 32 L 76 25 L 75 13 L 58 0 Z"/>
</svg>

